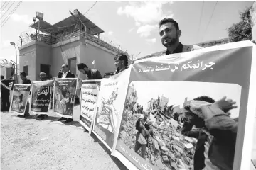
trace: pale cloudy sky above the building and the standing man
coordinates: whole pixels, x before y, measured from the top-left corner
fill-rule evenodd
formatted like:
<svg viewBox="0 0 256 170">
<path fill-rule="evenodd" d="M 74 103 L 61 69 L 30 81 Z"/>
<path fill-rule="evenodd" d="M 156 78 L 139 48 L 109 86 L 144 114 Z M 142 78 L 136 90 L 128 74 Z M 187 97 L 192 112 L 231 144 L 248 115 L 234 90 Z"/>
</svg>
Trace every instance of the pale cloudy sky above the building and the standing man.
<svg viewBox="0 0 256 170">
<path fill-rule="evenodd" d="M 9 16 L 19 1 L 1 1 L 1 22 Z M 13 4 L 14 3 L 14 4 Z M 239 11 L 253 1 L 23 1 L 1 27 L 1 59 L 15 61 L 15 49 L 10 42 L 35 33 L 29 26 L 36 12 L 43 20 L 58 23 L 70 16 L 69 10 L 80 13 L 102 28 L 100 37 L 134 55 L 144 57 L 165 50 L 159 38 L 158 23 L 162 18 L 174 18 L 182 31 L 185 45 L 227 38 L 227 28 L 239 22 Z M 4 4 L 4 6 L 3 6 Z M 11 4 L 13 4 L 11 6 Z M 94 6 L 92 6 L 95 4 Z M 92 8 L 91 8 L 92 7 Z M 9 10 L 8 10 L 9 8 Z M 88 11 L 88 9 L 90 10 Z"/>
</svg>

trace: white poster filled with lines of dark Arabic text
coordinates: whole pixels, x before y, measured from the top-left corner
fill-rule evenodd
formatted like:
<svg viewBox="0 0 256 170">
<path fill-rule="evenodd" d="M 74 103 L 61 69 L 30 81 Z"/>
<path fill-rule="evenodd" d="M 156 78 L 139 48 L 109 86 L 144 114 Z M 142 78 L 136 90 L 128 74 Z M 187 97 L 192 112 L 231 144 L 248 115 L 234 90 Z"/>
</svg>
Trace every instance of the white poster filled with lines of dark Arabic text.
<svg viewBox="0 0 256 170">
<path fill-rule="evenodd" d="M 80 124 L 92 132 L 101 80 L 84 80 L 80 95 Z"/>
</svg>

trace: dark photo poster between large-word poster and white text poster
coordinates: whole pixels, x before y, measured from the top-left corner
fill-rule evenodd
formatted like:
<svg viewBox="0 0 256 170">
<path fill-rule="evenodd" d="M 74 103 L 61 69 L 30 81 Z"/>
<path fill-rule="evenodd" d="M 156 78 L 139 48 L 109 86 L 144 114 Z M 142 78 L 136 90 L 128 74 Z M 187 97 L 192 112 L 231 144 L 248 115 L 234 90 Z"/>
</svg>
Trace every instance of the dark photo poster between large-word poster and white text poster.
<svg viewBox="0 0 256 170">
<path fill-rule="evenodd" d="M 73 117 L 78 79 L 54 79 L 53 112 L 64 118 Z"/>
</svg>

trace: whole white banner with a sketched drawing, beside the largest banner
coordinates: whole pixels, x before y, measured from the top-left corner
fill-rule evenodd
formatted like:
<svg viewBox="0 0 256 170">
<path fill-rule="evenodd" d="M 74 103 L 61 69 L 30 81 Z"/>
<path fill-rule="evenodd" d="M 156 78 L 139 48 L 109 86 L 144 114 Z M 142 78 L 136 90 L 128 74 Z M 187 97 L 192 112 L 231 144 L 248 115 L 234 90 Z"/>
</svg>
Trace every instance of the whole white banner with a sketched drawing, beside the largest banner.
<svg viewBox="0 0 256 170">
<path fill-rule="evenodd" d="M 92 132 L 110 151 L 117 139 L 120 118 L 124 107 L 125 95 L 131 68 L 108 79 L 102 79 L 97 101 L 97 113 Z"/>
</svg>

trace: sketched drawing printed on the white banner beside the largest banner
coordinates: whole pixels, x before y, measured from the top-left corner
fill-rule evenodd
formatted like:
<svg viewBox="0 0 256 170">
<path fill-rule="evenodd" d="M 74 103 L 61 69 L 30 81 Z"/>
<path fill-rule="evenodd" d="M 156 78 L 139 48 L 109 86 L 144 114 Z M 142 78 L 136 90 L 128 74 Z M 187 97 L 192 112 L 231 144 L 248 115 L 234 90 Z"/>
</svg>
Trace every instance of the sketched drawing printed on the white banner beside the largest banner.
<svg viewBox="0 0 256 170">
<path fill-rule="evenodd" d="M 119 83 L 121 84 L 121 83 Z M 120 106 L 117 100 L 119 95 L 118 81 L 102 82 L 100 98 L 97 104 L 94 131 L 104 140 L 108 147 L 112 148 L 114 143 L 114 132 L 117 128 Z"/>
</svg>

